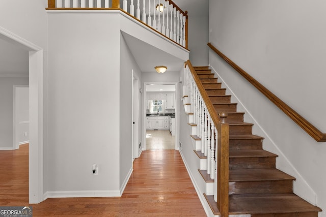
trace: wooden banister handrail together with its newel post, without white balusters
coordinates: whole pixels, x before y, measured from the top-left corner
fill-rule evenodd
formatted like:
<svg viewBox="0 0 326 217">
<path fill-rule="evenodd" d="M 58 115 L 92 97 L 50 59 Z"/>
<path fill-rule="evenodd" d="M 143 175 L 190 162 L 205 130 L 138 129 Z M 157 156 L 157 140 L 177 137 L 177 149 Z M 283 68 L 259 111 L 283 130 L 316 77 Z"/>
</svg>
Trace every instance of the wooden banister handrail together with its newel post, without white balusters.
<svg viewBox="0 0 326 217">
<path fill-rule="evenodd" d="M 218 167 L 216 168 L 218 173 L 218 202 L 216 205 L 220 211 L 220 216 L 227 217 L 229 216 L 229 124 L 225 122 L 227 113 L 221 112 L 218 115 L 191 62 L 187 60 L 185 65 L 189 67 L 214 126 L 218 131 L 218 139 L 215 144 L 218 161 Z"/>
</svg>

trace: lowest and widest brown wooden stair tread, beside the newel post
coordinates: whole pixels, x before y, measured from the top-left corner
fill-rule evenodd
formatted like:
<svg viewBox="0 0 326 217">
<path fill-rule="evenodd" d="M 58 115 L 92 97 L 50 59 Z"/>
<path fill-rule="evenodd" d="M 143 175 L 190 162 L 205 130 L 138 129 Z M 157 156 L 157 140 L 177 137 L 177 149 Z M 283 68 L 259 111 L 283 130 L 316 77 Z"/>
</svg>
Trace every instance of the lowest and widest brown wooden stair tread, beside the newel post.
<svg viewBox="0 0 326 217">
<path fill-rule="evenodd" d="M 229 196 L 230 214 L 297 213 L 321 211 L 295 194 L 242 194 Z"/>
</svg>

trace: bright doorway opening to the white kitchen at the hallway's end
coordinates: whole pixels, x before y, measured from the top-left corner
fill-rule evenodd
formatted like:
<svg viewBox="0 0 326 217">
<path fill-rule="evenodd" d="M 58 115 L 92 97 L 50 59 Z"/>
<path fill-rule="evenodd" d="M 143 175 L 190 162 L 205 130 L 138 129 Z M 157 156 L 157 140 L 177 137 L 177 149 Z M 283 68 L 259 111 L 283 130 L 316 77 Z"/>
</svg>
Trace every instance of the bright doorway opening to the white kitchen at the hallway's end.
<svg viewBox="0 0 326 217">
<path fill-rule="evenodd" d="M 144 83 L 143 150 L 178 149 L 177 96 L 177 82 Z"/>
</svg>

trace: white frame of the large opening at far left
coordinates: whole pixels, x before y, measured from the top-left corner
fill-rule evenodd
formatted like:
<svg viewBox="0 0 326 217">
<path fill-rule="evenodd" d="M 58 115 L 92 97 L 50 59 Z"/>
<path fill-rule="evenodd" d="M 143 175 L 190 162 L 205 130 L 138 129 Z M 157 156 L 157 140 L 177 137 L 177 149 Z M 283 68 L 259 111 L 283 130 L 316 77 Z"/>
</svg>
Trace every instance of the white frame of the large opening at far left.
<svg viewBox="0 0 326 217">
<path fill-rule="evenodd" d="M 43 189 L 43 48 L 0 26 L 0 39 L 29 51 L 30 145 L 29 203 L 44 200 Z"/>
</svg>

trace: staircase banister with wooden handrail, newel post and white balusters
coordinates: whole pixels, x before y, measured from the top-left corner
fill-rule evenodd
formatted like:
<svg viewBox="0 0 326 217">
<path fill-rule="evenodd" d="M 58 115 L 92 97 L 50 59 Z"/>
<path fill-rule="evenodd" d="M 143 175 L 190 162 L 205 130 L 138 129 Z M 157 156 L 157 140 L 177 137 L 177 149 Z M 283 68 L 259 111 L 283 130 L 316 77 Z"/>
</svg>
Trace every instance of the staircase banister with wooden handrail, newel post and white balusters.
<svg viewBox="0 0 326 217">
<path fill-rule="evenodd" d="M 199 104 L 200 107 L 198 109 L 197 106 L 197 112 L 195 112 L 198 117 L 197 128 L 202 128 L 202 132 L 199 133 L 203 142 L 202 152 L 206 152 L 206 148 L 211 148 L 211 151 L 207 151 L 207 161 L 212 158 L 212 163 L 208 163 L 207 173 L 210 174 L 209 164 L 211 164 L 211 168 L 213 168 L 212 173 L 214 173 L 212 176 L 216 184 L 216 191 L 214 192 L 216 206 L 220 211 L 220 216 L 227 217 L 229 216 L 229 124 L 225 121 L 227 113 L 221 112 L 218 115 L 189 60 L 186 61 L 185 66 L 188 67 L 191 72 L 192 78 L 197 87 L 196 89 L 199 91 L 199 96 L 195 94 L 195 96 L 188 97 L 195 97 L 196 100 L 193 102 Z M 187 84 L 187 86 L 191 85 Z M 189 91 L 196 92 L 193 91 L 193 87 L 188 88 L 191 89 Z M 190 95 L 194 94 L 190 93 Z M 203 103 L 201 103 L 201 101 L 203 101 Z M 208 110 L 208 113 L 206 110 Z M 195 118 L 196 117 L 194 117 L 194 119 Z M 211 126 L 210 120 L 212 120 Z M 211 143 L 211 141 L 213 142 Z M 211 147 L 210 143 L 212 144 Z M 211 152 L 211 154 L 209 154 L 209 152 Z"/>
</svg>

